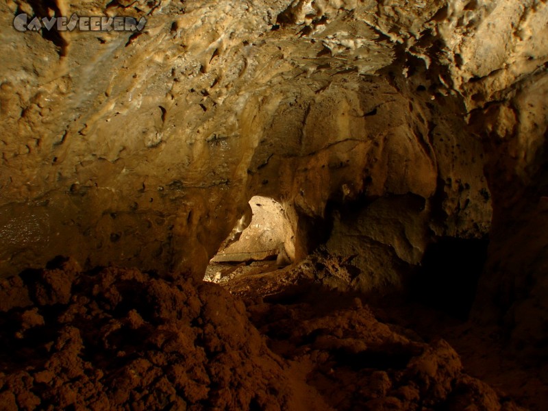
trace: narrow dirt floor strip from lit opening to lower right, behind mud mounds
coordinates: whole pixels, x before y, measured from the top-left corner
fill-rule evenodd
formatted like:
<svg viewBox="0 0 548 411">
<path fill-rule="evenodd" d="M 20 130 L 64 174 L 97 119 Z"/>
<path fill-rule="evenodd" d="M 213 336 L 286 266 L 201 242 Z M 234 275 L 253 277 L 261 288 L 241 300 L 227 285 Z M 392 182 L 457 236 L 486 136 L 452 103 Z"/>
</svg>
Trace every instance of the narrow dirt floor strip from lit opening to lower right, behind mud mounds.
<svg viewBox="0 0 548 411">
<path fill-rule="evenodd" d="M 240 265 L 244 275 L 223 278 L 220 284 L 240 296 L 251 311 L 253 301 L 261 300 L 292 310 L 300 310 L 304 304 L 313 312 L 347 310 L 354 301 L 359 301 L 371 310 L 377 321 L 411 340 L 428 344 L 442 339 L 447 341 L 458 353 L 462 371 L 489 384 L 502 399 L 512 399 L 529 410 L 548 409 L 548 364 L 516 357 L 508 349 L 501 329 L 456 318 L 403 293 L 362 295 L 351 292 L 337 278 L 333 265 L 323 270 L 323 275 L 318 275 L 316 267 L 311 265 L 314 264 L 277 270 L 273 266 L 269 269 L 265 263 L 262 273 L 258 273 L 258 267 L 253 264 L 247 269 Z M 325 271 L 334 275 L 325 275 Z M 262 323 L 252 322 L 259 329 L 264 327 Z"/>
</svg>

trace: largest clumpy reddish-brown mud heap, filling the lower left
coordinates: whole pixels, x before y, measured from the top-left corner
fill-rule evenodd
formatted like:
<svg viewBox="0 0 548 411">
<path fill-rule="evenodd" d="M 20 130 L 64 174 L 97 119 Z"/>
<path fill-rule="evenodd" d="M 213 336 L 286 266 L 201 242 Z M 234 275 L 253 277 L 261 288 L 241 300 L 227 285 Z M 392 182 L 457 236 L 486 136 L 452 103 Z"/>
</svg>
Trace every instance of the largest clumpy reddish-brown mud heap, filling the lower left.
<svg viewBox="0 0 548 411">
<path fill-rule="evenodd" d="M 282 363 L 220 287 L 136 270 L 3 282 L 0 409 L 288 408 Z"/>
</svg>

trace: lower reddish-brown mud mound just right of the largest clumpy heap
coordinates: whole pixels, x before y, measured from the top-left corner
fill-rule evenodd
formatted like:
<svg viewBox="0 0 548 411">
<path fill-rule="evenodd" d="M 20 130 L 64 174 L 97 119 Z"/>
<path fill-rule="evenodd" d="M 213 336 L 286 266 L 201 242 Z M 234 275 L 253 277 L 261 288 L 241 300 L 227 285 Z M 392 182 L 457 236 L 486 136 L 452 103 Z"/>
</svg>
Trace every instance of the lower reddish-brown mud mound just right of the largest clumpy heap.
<svg viewBox="0 0 548 411">
<path fill-rule="evenodd" d="M 249 310 L 273 351 L 306 369 L 326 409 L 521 409 L 463 373 L 445 340 L 427 345 L 409 330 L 380 323 L 359 299 L 334 312 L 306 303 Z"/>
</svg>

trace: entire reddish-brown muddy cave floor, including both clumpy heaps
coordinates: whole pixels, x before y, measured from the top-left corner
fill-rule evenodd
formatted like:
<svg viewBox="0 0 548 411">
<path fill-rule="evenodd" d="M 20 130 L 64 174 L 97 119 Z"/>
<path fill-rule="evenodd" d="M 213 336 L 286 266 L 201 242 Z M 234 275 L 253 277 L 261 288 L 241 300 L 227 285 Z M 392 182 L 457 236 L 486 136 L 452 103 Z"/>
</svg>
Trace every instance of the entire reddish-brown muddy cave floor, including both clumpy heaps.
<svg viewBox="0 0 548 411">
<path fill-rule="evenodd" d="M 533 374 L 497 380 L 493 336 L 274 268 L 219 286 L 59 260 L 1 281 L 0 410 L 545 409 Z"/>
</svg>

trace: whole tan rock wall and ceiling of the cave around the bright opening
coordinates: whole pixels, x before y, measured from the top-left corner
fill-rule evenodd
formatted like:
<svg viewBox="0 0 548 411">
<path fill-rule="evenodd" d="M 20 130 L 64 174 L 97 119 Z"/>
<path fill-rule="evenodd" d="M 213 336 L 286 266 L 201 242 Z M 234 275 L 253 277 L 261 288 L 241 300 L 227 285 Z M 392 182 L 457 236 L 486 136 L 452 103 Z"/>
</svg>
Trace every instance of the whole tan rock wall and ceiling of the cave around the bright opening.
<svg viewBox="0 0 548 411">
<path fill-rule="evenodd" d="M 545 181 L 547 5 L 385 3 L 0 5 L 3 274 L 64 254 L 201 278 L 263 195 L 292 214 L 297 260 L 318 232 L 347 252 L 350 226 L 374 245 L 373 269 L 492 230 L 506 286 L 493 257 L 480 290 L 508 289 L 523 258 L 505 251 L 508 221 L 534 225 L 545 208 L 527 204 L 548 195 L 532 189 Z M 147 24 L 40 35 L 12 28 L 21 12 Z M 361 283 L 377 284 L 364 264 Z"/>
</svg>

